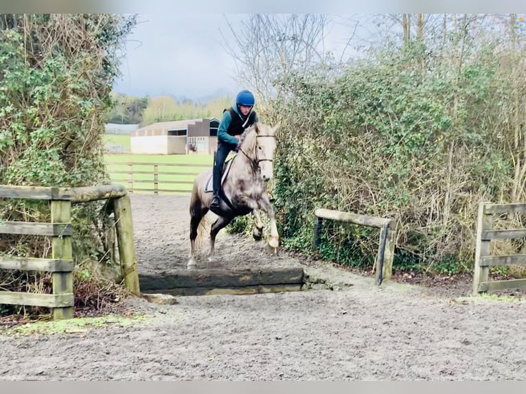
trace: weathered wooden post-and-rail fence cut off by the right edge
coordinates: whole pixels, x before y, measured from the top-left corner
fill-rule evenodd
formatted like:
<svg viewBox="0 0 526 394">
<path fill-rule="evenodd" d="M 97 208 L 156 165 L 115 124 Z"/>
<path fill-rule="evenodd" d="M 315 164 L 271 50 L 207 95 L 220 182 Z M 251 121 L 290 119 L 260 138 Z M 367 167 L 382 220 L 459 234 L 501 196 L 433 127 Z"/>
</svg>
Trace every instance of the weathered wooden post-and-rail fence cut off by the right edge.
<svg viewBox="0 0 526 394">
<path fill-rule="evenodd" d="M 492 240 L 511 240 L 526 237 L 526 229 L 493 230 L 494 214 L 498 213 L 526 213 L 526 204 L 492 204 L 490 202 L 479 203 L 479 214 L 477 218 L 477 243 L 475 246 L 473 275 L 473 294 L 526 287 L 526 279 L 511 279 L 501 281 L 489 280 L 491 266 L 526 264 L 526 255 L 491 255 L 490 243 Z"/>
</svg>

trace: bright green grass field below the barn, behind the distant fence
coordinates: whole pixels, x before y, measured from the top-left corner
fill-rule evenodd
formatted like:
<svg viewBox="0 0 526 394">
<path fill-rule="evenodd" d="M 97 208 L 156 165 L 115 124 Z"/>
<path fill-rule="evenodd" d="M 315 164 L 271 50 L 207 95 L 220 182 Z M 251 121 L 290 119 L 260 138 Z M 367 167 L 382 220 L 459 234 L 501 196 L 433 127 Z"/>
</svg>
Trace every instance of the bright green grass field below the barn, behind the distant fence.
<svg viewBox="0 0 526 394">
<path fill-rule="evenodd" d="M 128 189 L 148 189 L 136 190 L 137 193 L 153 192 L 154 164 L 157 164 L 158 189 L 179 190 L 174 193 L 189 194 L 196 175 L 211 168 L 214 157 L 211 154 L 105 154 L 104 163 L 117 185 Z M 128 163 L 134 164 L 130 166 Z M 133 183 L 126 181 L 130 178 L 130 172 L 133 172 Z"/>
</svg>

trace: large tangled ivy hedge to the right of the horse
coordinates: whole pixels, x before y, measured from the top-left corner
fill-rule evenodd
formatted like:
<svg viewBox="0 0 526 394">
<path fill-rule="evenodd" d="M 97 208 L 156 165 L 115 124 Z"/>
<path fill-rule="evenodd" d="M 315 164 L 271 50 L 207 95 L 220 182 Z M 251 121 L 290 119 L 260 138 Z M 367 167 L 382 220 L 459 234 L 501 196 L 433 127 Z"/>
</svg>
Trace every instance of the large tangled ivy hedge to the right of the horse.
<svg viewBox="0 0 526 394">
<path fill-rule="evenodd" d="M 479 200 L 525 197 L 526 81 L 524 56 L 501 38 L 466 38 L 461 61 L 458 39 L 389 43 L 336 78 L 319 65 L 277 80 L 286 94 L 269 108 L 282 119 L 273 196 L 284 244 L 371 265 L 378 231 L 324 227 L 315 251 L 314 211 L 324 207 L 393 218 L 398 268 L 472 266 Z"/>
</svg>

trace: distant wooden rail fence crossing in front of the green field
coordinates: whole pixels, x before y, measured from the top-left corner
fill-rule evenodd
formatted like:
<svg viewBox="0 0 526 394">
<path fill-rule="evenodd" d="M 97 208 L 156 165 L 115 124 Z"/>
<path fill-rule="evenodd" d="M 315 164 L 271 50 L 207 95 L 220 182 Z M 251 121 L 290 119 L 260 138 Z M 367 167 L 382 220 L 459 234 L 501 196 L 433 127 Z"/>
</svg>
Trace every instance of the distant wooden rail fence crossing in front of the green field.
<svg viewBox="0 0 526 394">
<path fill-rule="evenodd" d="M 124 183 L 129 192 L 153 192 L 190 194 L 194 178 L 205 168 L 211 169 L 209 164 L 187 164 L 187 163 L 139 163 L 108 161 L 105 163 L 111 181 L 113 183 Z M 116 166 L 125 167 L 123 170 L 115 170 Z M 141 168 L 140 170 L 137 167 Z M 146 170 L 144 170 L 146 167 Z M 159 170 L 161 167 L 161 170 Z M 164 170 L 163 167 L 168 167 Z M 175 167 L 176 170 L 172 170 Z M 183 171 L 181 171 L 183 167 Z M 188 171 L 184 171 L 188 168 Z M 191 170 L 190 170 L 191 169 Z M 148 177 L 150 176 L 150 177 Z M 145 179 L 146 178 L 146 179 Z M 143 185 L 152 187 L 144 187 Z M 173 188 L 170 186 L 176 185 Z"/>
</svg>

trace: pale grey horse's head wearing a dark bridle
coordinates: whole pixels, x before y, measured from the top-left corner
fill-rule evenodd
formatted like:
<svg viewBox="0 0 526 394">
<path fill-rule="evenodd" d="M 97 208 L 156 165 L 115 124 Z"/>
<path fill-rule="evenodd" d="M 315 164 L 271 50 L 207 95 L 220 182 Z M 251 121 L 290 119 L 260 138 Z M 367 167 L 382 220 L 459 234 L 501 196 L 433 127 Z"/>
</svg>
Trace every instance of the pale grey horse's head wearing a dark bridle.
<svg viewBox="0 0 526 394">
<path fill-rule="evenodd" d="M 247 155 L 252 165 L 260 170 L 264 181 L 268 182 L 274 174 L 274 152 L 276 150 L 275 132 L 279 124 L 274 127 L 256 123 L 247 129 L 241 143 L 241 150 Z"/>
</svg>

